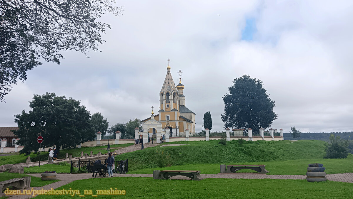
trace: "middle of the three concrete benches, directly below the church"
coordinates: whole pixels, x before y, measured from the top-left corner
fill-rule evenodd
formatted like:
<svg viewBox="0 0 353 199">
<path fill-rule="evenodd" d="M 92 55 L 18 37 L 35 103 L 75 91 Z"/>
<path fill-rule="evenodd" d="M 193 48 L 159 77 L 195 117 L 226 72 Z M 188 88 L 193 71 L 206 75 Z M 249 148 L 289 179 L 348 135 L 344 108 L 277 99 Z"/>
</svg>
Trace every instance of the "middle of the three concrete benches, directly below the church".
<svg viewBox="0 0 353 199">
<path fill-rule="evenodd" d="M 172 176 L 182 175 L 192 180 L 202 180 L 200 171 L 189 170 L 155 170 L 153 171 L 153 179 L 169 179 Z"/>
</svg>

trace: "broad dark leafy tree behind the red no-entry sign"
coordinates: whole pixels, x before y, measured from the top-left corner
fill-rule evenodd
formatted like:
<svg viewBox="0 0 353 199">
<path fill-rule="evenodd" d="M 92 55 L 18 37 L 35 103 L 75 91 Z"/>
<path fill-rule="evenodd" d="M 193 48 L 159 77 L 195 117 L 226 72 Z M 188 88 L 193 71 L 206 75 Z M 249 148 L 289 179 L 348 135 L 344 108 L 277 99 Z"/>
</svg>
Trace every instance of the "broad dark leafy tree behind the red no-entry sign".
<svg viewBox="0 0 353 199">
<path fill-rule="evenodd" d="M 32 111 L 22 111 L 15 115 L 15 122 L 19 130 L 15 131 L 24 148 L 21 154 L 38 152 L 37 137 L 43 136 L 42 147 L 55 145 L 58 153 L 60 148 L 75 147 L 95 138 L 91 114 L 80 101 L 65 96 L 56 96 L 55 93 L 34 95 L 29 102 Z"/>
</svg>

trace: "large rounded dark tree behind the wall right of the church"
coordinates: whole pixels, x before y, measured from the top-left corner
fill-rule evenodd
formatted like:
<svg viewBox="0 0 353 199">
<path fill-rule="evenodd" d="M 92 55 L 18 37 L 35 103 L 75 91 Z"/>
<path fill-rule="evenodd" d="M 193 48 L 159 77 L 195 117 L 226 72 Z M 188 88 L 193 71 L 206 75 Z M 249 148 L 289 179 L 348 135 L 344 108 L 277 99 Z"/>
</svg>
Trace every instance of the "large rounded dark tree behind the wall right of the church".
<svg viewBox="0 0 353 199">
<path fill-rule="evenodd" d="M 265 129 L 277 119 L 277 114 L 273 111 L 275 101 L 269 98 L 259 79 L 243 75 L 234 79 L 228 90 L 229 94 L 223 97 L 225 113 L 221 116 L 225 128 Z"/>
</svg>

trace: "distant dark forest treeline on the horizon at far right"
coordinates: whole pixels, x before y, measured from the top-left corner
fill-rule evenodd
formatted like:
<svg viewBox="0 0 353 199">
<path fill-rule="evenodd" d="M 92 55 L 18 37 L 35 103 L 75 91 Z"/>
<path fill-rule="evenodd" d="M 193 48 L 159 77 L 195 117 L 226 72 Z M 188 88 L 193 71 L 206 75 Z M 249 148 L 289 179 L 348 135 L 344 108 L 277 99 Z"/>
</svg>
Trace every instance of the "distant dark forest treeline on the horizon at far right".
<svg viewBox="0 0 353 199">
<path fill-rule="evenodd" d="M 352 132 L 331 132 L 331 133 L 300 133 L 300 137 L 297 139 L 317 139 L 328 142 L 331 134 L 335 136 L 341 136 L 343 139 L 353 140 L 353 131 Z M 294 139 L 291 136 L 291 133 L 283 133 L 283 139 Z"/>
</svg>

